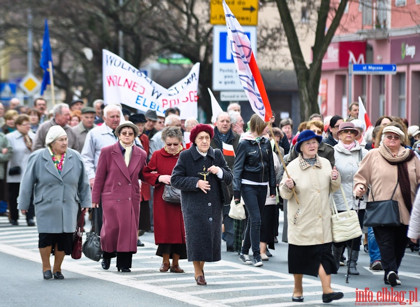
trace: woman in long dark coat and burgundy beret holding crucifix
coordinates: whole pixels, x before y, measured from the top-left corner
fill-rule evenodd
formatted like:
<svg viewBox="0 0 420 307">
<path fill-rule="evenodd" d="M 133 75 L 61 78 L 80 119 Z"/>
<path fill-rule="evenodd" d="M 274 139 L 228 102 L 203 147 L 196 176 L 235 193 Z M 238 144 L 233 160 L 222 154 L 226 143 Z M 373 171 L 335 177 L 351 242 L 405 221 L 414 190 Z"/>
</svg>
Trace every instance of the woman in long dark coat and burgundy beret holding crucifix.
<svg viewBox="0 0 420 307">
<path fill-rule="evenodd" d="M 195 279 L 205 286 L 204 262 L 221 259 L 222 200 L 220 181 L 229 185 L 232 171 L 219 149 L 210 141 L 214 130 L 198 124 L 191 130 L 193 145 L 181 151 L 172 172 L 171 184 L 181 190 L 188 261 L 193 261 Z"/>
</svg>

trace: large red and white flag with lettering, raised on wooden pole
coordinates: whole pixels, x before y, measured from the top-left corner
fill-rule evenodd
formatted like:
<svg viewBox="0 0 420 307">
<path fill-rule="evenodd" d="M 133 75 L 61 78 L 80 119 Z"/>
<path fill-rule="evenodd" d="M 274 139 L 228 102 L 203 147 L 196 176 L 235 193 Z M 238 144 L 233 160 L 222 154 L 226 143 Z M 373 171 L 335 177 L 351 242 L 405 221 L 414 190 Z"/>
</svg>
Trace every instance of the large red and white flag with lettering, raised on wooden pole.
<svg viewBox="0 0 420 307">
<path fill-rule="evenodd" d="M 271 106 L 248 36 L 223 0 L 229 45 L 239 79 L 253 111 L 265 122 L 272 117 Z"/>
</svg>

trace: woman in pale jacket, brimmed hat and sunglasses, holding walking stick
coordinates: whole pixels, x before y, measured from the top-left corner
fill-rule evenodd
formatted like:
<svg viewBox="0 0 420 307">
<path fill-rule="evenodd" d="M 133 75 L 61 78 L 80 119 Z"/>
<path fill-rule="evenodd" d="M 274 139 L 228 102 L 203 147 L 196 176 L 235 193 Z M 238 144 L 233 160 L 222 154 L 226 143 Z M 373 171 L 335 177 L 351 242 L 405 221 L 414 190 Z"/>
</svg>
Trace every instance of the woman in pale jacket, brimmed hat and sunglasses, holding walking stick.
<svg viewBox="0 0 420 307">
<path fill-rule="evenodd" d="M 359 209 L 358 215 L 361 224 L 360 227 L 363 228 L 363 217 L 365 216 L 366 203 L 364 201 L 359 203 L 359 201 L 353 197 L 353 180 L 354 174 L 359 169 L 360 162 L 366 156 L 368 151 L 362 148 L 358 141 L 354 141 L 354 138 L 359 135 L 359 130 L 354 127 L 352 122 L 341 123 L 337 131 L 337 135 L 340 140 L 338 144 L 334 146 L 335 167 L 337 167 L 340 172 L 341 185 L 343 186 L 346 199 L 344 200 L 344 195 L 341 192 L 341 189 L 335 191 L 332 194 L 332 198 L 335 205 L 337 205 L 337 210 L 339 212 L 346 211 L 345 201 L 347 201 L 350 209 Z M 365 197 L 365 200 L 367 200 L 367 197 Z M 340 268 L 340 257 L 343 247 L 347 246 L 348 261 L 350 266 L 349 273 L 351 275 L 359 275 L 359 272 L 356 269 L 356 263 L 359 259 L 361 238 L 362 237 L 360 236 L 346 242 L 332 244 L 332 255 L 335 259 L 337 270 Z"/>
</svg>

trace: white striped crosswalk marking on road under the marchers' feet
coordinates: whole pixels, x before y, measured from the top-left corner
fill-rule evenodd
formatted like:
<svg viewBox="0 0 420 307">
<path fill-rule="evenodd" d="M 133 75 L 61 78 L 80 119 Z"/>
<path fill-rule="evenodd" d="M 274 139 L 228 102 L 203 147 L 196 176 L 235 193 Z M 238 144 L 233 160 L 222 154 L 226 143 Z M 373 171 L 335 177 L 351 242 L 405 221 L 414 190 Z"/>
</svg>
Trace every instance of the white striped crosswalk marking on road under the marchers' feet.
<svg viewBox="0 0 420 307">
<path fill-rule="evenodd" d="M 87 225 L 88 226 L 88 225 Z M 86 227 L 86 229 L 89 229 Z M 81 275 L 90 276 L 123 286 L 136 288 L 150 293 L 170 296 L 175 301 L 197 306 L 292 306 L 293 276 L 272 271 L 264 266 L 244 266 L 238 262 L 221 260 L 208 263 L 204 267 L 206 287 L 199 287 L 194 281 L 192 262 L 180 260 L 184 274 L 159 272 L 162 258 L 156 256 L 153 234 L 141 237 L 144 247 L 138 248 L 133 255 L 131 273 L 118 273 L 115 259 L 111 268 L 105 271 L 101 263 L 92 261 L 82 255 L 74 260 L 66 256 L 62 269 Z M 83 236 L 83 241 L 86 234 Z M 19 226 L 11 226 L 7 217 L 0 217 L 0 252 L 22 257 L 40 263 L 38 252 L 38 233 L 36 227 L 28 227 L 24 218 L 20 218 Z M 321 283 L 319 280 L 304 278 L 305 302 L 299 305 L 322 304 Z M 340 302 L 354 302 L 354 288 L 332 285 L 335 290 L 352 294 Z M 228 296 L 223 295 L 228 293 Z M 221 298 L 223 297 L 223 298 Z"/>
</svg>

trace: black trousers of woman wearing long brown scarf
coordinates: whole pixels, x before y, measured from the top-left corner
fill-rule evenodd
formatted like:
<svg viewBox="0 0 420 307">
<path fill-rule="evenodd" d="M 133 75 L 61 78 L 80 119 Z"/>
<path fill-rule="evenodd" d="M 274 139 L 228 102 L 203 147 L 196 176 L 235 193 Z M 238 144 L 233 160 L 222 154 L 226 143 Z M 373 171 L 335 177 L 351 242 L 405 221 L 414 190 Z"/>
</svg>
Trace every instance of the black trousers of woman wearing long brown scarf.
<svg viewBox="0 0 420 307">
<path fill-rule="evenodd" d="M 398 273 L 407 246 L 407 225 L 373 227 L 385 277 L 388 272 Z"/>
</svg>

